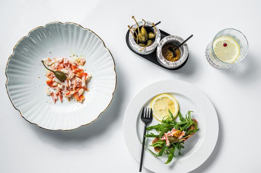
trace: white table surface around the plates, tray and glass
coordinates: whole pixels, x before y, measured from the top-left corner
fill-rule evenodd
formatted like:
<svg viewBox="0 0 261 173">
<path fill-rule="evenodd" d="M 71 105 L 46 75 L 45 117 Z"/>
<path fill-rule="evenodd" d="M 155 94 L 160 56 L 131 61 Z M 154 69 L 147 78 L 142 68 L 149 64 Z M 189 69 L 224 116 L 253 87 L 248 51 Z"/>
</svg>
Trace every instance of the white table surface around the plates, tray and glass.
<svg viewBox="0 0 261 173">
<path fill-rule="evenodd" d="M 139 164 L 123 137 L 123 117 L 143 87 L 167 79 L 200 88 L 218 113 L 220 131 L 209 159 L 193 173 L 258 173 L 261 169 L 261 1 L 259 0 L 0 0 L 0 173 L 135 173 Z M 131 3 L 130 3 L 131 2 Z M 169 71 L 131 52 L 125 42 L 131 16 L 186 38 L 190 58 Z M 118 77 L 109 109 L 91 125 L 49 131 L 25 121 L 5 89 L 5 66 L 13 46 L 52 21 L 75 22 L 97 33 L 111 50 Z M 249 53 L 236 68 L 220 71 L 205 48 L 224 28 L 242 31 Z M 143 169 L 144 173 L 150 171 Z"/>
</svg>

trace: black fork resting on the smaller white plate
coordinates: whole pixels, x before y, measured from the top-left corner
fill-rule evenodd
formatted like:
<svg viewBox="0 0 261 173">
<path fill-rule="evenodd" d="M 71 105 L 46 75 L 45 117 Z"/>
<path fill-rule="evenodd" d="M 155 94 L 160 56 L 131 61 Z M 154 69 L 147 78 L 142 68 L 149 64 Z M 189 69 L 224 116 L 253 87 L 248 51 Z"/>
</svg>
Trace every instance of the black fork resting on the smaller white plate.
<svg viewBox="0 0 261 173">
<path fill-rule="evenodd" d="M 146 134 L 147 124 L 149 124 L 152 121 L 152 109 L 151 108 L 143 108 L 140 118 L 141 118 L 141 121 L 145 124 L 145 126 L 144 126 L 144 132 L 143 132 L 143 141 L 142 141 L 142 149 L 141 149 L 141 156 L 140 156 L 139 172 L 141 172 L 141 168 L 142 168 L 143 152 L 144 152 L 144 145 L 145 145 L 145 134 Z"/>
</svg>

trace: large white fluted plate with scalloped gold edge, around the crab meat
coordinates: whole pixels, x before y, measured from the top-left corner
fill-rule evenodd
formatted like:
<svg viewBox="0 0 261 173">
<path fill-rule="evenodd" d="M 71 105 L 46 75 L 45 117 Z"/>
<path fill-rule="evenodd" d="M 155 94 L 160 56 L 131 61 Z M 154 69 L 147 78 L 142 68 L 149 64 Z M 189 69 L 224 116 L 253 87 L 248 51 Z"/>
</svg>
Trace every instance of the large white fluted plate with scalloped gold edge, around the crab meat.
<svg viewBox="0 0 261 173">
<path fill-rule="evenodd" d="M 92 74 L 85 100 L 54 103 L 45 94 L 47 57 L 83 56 L 81 68 Z M 72 130 L 96 120 L 113 98 L 116 88 L 114 59 L 94 32 L 75 23 L 52 22 L 37 27 L 13 49 L 6 66 L 9 98 L 28 122 L 47 130 Z"/>
</svg>

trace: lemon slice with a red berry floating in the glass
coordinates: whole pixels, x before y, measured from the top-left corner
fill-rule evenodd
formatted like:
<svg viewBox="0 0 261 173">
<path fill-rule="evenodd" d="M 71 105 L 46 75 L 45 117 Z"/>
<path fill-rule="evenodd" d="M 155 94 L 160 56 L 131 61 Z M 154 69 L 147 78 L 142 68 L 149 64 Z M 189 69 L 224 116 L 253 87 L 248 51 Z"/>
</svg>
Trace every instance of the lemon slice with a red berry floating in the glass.
<svg viewBox="0 0 261 173">
<path fill-rule="evenodd" d="M 240 54 L 240 46 L 231 37 L 220 37 L 213 42 L 214 53 L 223 62 L 234 63 Z"/>
</svg>

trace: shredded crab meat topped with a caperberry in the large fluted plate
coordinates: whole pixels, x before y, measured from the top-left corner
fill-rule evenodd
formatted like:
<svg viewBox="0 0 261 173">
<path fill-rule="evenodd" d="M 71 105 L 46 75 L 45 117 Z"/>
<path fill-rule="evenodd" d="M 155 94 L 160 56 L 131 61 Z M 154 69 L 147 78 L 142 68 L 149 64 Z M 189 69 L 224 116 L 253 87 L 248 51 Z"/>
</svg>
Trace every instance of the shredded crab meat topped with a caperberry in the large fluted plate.
<svg viewBox="0 0 261 173">
<path fill-rule="evenodd" d="M 91 79 L 91 74 L 79 68 L 85 64 L 85 59 L 46 58 L 42 62 L 48 69 L 45 93 L 52 96 L 54 103 L 57 100 L 63 102 L 64 97 L 68 101 L 73 98 L 82 103 L 85 99 L 83 93 L 88 91 L 87 84 Z"/>
</svg>

